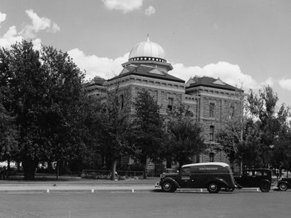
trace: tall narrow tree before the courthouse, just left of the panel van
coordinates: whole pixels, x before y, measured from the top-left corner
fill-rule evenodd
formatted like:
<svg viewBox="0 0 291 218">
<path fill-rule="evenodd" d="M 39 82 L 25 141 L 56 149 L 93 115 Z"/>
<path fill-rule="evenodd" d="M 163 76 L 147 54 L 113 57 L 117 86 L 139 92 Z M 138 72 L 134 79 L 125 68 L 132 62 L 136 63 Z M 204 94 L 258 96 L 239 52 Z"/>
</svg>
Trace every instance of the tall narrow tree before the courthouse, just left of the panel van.
<svg viewBox="0 0 291 218">
<path fill-rule="evenodd" d="M 159 156 L 163 142 L 163 120 L 158 104 L 148 91 L 138 93 L 134 108 L 131 140 L 135 156 L 143 165 L 143 178 L 146 178 L 148 159 L 157 159 Z"/>
</svg>

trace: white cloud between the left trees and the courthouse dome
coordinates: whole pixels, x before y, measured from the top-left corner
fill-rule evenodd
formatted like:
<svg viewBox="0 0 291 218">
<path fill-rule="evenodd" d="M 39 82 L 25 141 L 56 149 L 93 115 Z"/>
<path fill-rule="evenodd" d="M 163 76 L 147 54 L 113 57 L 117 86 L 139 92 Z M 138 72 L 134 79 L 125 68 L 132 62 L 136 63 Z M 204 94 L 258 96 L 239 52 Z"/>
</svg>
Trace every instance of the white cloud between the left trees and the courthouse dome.
<svg viewBox="0 0 291 218">
<path fill-rule="evenodd" d="M 119 75 L 123 67 L 121 64 L 128 61 L 128 53 L 123 57 L 110 59 L 108 57 L 97 57 L 96 55 L 86 55 L 84 52 L 75 48 L 68 51 L 70 57 L 79 69 L 85 70 L 85 79 L 92 79 L 95 76 L 101 76 L 104 79 L 110 79 Z"/>
</svg>

